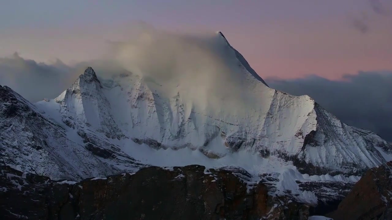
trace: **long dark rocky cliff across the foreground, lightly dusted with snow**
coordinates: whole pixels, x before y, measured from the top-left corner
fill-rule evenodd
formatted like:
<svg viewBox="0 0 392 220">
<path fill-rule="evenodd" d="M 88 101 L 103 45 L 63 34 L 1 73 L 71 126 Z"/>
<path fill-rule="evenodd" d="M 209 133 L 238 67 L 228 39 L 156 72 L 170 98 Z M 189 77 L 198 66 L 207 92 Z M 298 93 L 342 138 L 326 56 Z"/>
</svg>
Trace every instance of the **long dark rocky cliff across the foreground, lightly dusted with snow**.
<svg viewBox="0 0 392 220">
<path fill-rule="evenodd" d="M 264 184 L 203 166 L 149 167 L 81 182 L 1 167 L 6 219 L 307 220 L 309 206 L 272 197 Z"/>
</svg>

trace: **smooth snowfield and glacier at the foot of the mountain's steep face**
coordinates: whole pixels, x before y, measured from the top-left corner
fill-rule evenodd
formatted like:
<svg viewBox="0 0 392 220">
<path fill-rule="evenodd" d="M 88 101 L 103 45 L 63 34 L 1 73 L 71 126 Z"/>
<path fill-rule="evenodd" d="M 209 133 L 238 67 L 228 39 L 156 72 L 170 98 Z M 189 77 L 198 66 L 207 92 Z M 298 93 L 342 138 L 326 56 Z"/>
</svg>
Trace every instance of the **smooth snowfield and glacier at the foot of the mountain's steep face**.
<svg viewBox="0 0 392 220">
<path fill-rule="evenodd" d="M 307 174 L 299 173 L 291 162 L 284 162 L 274 156 L 271 156 L 269 159 L 263 159 L 248 151 L 230 153 L 226 157 L 220 159 L 210 159 L 205 157 L 205 155 L 198 150 L 192 151 L 189 148 L 180 150 L 172 150 L 171 148 L 168 148 L 167 150 L 154 150 L 145 144 L 139 145 L 134 142 L 129 142 L 124 151 L 146 164 L 161 166 L 170 171 L 173 171 L 173 166 L 200 164 L 206 167 L 204 171 L 205 174 L 211 174 L 211 172 L 208 171 L 210 168 L 239 166 L 255 176 L 253 181 L 247 184 L 248 191 L 252 188 L 252 184 L 259 181 L 256 177 L 259 173 L 276 173 L 276 177 L 279 179 L 279 182 L 276 182 L 278 194 L 283 194 L 285 190 L 291 190 L 292 194 L 299 194 L 299 196 L 296 197 L 298 201 L 308 202 L 310 204 L 317 203 L 316 196 L 310 191 L 301 191 L 298 188 L 298 184 L 295 182 L 296 180 L 351 181 L 354 179 L 354 177 L 344 178 L 341 175 L 309 177 Z M 355 177 L 354 182 L 359 178 L 360 177 Z M 212 180 L 212 182 L 215 181 Z"/>
</svg>

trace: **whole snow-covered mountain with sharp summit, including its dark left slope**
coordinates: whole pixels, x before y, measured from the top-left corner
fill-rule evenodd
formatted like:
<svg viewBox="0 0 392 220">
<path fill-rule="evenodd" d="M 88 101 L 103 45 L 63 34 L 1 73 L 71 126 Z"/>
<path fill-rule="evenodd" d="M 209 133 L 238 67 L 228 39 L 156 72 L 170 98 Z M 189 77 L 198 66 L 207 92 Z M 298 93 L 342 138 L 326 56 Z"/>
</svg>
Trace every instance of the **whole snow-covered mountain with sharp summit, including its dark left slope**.
<svg viewBox="0 0 392 220">
<path fill-rule="evenodd" d="M 98 79 L 89 67 L 56 99 L 35 104 L 1 87 L 4 164 L 57 179 L 147 164 L 240 167 L 247 181 L 271 182 L 277 193 L 316 203 L 326 194 L 342 197 L 331 182 L 351 186 L 392 159 L 381 137 L 341 123 L 309 96 L 269 88 L 221 32 L 214 40 L 230 63 L 226 72 Z M 301 187 L 310 181 L 323 190 Z"/>
</svg>

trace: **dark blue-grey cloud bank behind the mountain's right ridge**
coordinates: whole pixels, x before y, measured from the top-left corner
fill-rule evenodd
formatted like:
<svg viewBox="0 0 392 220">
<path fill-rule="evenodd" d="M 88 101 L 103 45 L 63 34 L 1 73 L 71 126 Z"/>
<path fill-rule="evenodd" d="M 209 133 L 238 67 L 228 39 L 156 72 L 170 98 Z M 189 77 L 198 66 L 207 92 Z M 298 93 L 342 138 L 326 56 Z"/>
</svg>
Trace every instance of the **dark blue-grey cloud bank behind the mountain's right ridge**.
<svg viewBox="0 0 392 220">
<path fill-rule="evenodd" d="M 392 141 L 392 72 L 359 72 L 345 75 L 343 81 L 318 76 L 266 81 L 289 94 L 309 95 L 344 123 Z"/>
</svg>

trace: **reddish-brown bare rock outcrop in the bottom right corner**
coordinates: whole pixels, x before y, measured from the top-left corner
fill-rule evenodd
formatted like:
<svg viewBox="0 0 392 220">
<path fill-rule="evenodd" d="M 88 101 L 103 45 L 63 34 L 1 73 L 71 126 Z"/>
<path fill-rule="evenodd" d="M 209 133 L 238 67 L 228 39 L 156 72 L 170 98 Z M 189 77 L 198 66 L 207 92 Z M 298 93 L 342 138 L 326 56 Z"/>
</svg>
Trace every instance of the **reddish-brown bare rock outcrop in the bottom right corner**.
<svg viewBox="0 0 392 220">
<path fill-rule="evenodd" d="M 369 169 L 354 185 L 338 209 L 334 220 L 392 219 L 392 162 Z"/>
</svg>

